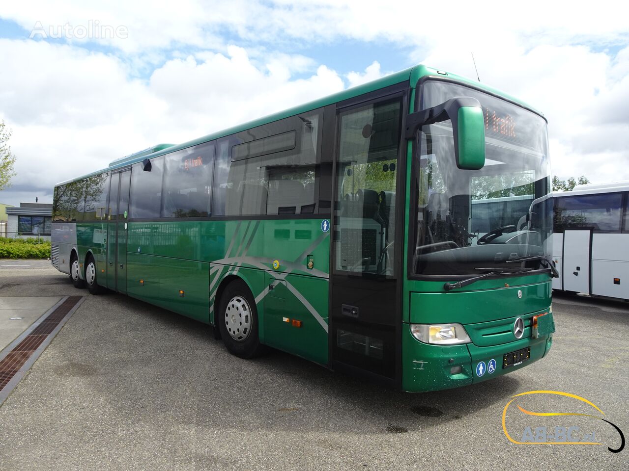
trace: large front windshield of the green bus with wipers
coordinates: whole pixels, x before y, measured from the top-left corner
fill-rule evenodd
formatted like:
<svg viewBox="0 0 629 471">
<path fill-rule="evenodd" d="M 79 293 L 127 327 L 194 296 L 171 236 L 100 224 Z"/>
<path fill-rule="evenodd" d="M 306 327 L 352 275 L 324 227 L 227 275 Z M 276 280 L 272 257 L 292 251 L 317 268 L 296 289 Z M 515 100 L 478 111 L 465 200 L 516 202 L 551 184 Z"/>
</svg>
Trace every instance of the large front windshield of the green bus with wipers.
<svg viewBox="0 0 629 471">
<path fill-rule="evenodd" d="M 452 97 L 474 97 L 481 103 L 485 165 L 457 168 L 450 121 L 421 128 L 411 252 L 415 274 L 543 268 L 538 256 L 550 257 L 552 216 L 528 215 L 533 200 L 549 192 L 545 120 L 506 100 L 442 80 L 423 84 L 420 109 Z M 515 263 L 526 257 L 535 258 Z"/>
</svg>

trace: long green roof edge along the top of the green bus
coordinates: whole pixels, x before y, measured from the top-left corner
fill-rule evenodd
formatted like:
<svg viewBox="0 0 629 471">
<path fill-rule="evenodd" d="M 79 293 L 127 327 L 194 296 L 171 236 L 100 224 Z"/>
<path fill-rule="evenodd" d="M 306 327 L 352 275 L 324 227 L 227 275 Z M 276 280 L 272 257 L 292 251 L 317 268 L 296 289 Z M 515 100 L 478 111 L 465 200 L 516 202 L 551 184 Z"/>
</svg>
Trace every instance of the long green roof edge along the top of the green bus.
<svg viewBox="0 0 629 471">
<path fill-rule="evenodd" d="M 308 111 L 311 111 L 313 109 L 317 109 L 323 106 L 328 106 L 333 103 L 337 103 L 343 100 L 357 97 L 359 95 L 373 92 L 375 90 L 379 90 L 385 87 L 389 87 L 390 85 L 399 84 L 401 82 L 408 81 L 409 87 L 411 89 L 414 89 L 418 80 L 420 80 L 420 78 L 423 78 L 423 77 L 448 78 L 450 80 L 454 80 L 455 82 L 459 82 L 461 84 L 470 85 L 470 87 L 481 89 L 485 92 L 489 92 L 490 94 L 498 95 L 499 97 L 508 99 L 544 117 L 540 111 L 537 111 L 537 109 L 526 104 L 522 100 L 516 99 L 515 97 L 505 94 L 504 92 L 494 89 L 493 87 L 489 87 L 488 85 L 484 85 L 481 82 L 477 82 L 476 80 L 462 77 L 460 75 L 455 75 L 454 73 L 443 72 L 442 70 L 438 70 L 436 68 L 426 67 L 425 65 L 416 65 L 415 67 L 406 68 L 399 72 L 391 73 L 390 75 L 386 75 L 385 77 L 378 78 L 377 80 L 373 80 L 372 82 L 367 82 L 366 84 L 357 85 L 356 87 L 343 90 L 342 92 L 338 92 L 333 95 L 328 95 L 327 97 L 323 97 L 323 98 L 308 102 L 303 105 L 292 107 L 284 111 L 271 114 L 269 116 L 260 117 L 259 119 L 254 119 L 253 121 L 245 122 L 243 124 L 238 124 L 238 126 L 233 126 L 228 129 L 223 129 L 222 131 L 208 134 L 206 136 L 203 136 L 202 138 L 192 139 L 192 141 L 187 141 L 186 143 L 157 144 L 157 146 L 152 146 L 150 148 L 143 149 L 142 151 L 138 151 L 138 152 L 129 154 L 127 156 L 124 156 L 122 158 L 118 158 L 112 161 L 111 163 L 109 163 L 108 168 L 103 168 L 101 170 L 93 171 L 92 173 L 89 173 L 87 175 L 83 175 L 77 178 L 71 178 L 69 180 L 62 181 L 61 183 L 57 183 L 57 185 L 55 186 L 63 185 L 64 183 L 70 183 L 71 181 L 81 180 L 82 178 L 87 178 L 89 176 L 99 175 L 100 173 L 110 171 L 110 170 L 115 170 L 116 168 L 128 166 L 133 163 L 140 162 L 147 158 L 148 159 L 155 158 L 160 155 L 172 153 L 174 151 L 178 151 L 181 149 L 186 149 L 191 146 L 196 146 L 197 144 L 205 143 L 208 141 L 213 141 L 214 139 L 223 138 L 225 136 L 229 136 L 230 134 L 239 133 L 240 131 L 246 131 L 247 129 L 250 129 L 252 127 L 262 126 L 263 124 L 267 124 L 269 122 L 277 121 L 279 119 L 284 119 L 286 117 L 291 117 L 296 114 L 308 112 Z"/>
</svg>

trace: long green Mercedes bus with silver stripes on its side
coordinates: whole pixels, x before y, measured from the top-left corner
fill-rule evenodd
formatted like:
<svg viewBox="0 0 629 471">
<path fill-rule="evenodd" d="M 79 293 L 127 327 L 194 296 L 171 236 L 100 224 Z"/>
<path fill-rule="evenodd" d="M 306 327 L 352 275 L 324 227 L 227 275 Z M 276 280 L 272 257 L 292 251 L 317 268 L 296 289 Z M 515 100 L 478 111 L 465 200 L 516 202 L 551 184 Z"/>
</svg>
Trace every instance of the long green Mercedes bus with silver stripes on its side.
<svg viewBox="0 0 629 471">
<path fill-rule="evenodd" d="M 550 349 L 547 148 L 532 107 L 418 65 L 60 183 L 52 264 L 242 358 L 464 386 Z M 495 198 L 508 217 L 470 210 Z"/>
</svg>

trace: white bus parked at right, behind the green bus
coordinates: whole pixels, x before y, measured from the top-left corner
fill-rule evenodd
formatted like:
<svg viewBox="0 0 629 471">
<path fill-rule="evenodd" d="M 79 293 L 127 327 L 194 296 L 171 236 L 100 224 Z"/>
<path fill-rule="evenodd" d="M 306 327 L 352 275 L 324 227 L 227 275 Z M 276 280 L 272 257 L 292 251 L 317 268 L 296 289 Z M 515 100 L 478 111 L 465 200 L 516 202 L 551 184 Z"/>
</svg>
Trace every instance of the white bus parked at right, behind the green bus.
<svg viewBox="0 0 629 471">
<path fill-rule="evenodd" d="M 629 181 L 554 193 L 554 290 L 629 300 Z"/>
</svg>

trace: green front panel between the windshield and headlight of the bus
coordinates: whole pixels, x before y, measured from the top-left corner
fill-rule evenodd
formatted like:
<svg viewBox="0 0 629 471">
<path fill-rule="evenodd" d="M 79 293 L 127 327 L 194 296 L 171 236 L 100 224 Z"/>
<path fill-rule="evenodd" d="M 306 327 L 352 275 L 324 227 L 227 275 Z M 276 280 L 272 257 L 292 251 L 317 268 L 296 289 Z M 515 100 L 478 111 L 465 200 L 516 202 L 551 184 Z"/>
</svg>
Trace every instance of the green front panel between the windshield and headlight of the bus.
<svg viewBox="0 0 629 471">
<path fill-rule="evenodd" d="M 521 298 L 518 298 L 518 291 L 522 292 Z M 548 309 L 548 306 L 550 281 L 509 288 L 504 288 L 503 284 L 503 288 L 489 290 L 411 293 L 410 322 L 465 325 L 522 316 Z"/>
</svg>

